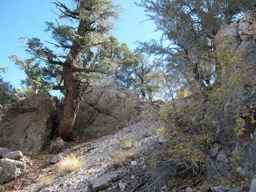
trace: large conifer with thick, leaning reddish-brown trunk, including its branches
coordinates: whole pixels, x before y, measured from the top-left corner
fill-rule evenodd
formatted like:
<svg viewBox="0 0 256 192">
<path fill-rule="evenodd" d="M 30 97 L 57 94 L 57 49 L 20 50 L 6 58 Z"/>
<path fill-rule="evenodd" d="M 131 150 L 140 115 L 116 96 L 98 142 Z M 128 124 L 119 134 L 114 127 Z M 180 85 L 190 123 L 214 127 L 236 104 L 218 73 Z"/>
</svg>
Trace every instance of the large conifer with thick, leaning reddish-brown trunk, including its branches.
<svg viewBox="0 0 256 192">
<path fill-rule="evenodd" d="M 56 78 L 58 84 L 52 89 L 65 92 L 65 106 L 62 120 L 59 123 L 59 135 L 63 139 L 71 138 L 71 131 L 75 123 L 81 99 L 81 82 L 88 83 L 89 79 L 80 79 L 81 73 L 106 73 L 98 60 L 99 49 L 109 41 L 108 33 L 113 29 L 113 20 L 119 17 L 120 6 L 114 5 L 112 0 L 75 0 L 73 8 L 64 3 L 54 2 L 60 11 L 59 18 L 70 21 L 71 24 L 61 24 L 60 21 L 46 22 L 46 32 L 52 32 L 55 42 L 49 42 L 62 53 L 56 52 L 42 44 L 38 38 L 27 39 L 27 52 L 33 57 L 33 69 L 41 64 L 51 73 L 42 73 L 45 77 L 33 79 L 36 84 L 45 84 L 41 80 Z M 17 61 L 17 60 L 16 60 Z M 29 61 L 31 62 L 31 61 Z M 25 62 L 26 63 L 26 62 Z M 103 65 L 104 66 L 104 65 Z M 39 71 L 44 67 L 39 67 Z M 37 69 L 36 69 L 37 70 Z M 38 71 L 33 72 L 34 76 Z M 87 76 L 89 77 L 89 76 Z M 46 81 L 46 82 L 47 82 Z"/>
</svg>

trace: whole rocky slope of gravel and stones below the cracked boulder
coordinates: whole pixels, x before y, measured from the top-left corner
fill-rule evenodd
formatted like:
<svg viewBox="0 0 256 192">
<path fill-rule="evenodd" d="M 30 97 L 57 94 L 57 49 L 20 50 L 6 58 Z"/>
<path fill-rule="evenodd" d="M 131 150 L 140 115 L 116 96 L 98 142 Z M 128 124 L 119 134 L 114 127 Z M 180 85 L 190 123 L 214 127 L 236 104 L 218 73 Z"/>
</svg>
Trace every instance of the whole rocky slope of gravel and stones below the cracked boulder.
<svg viewBox="0 0 256 192">
<path fill-rule="evenodd" d="M 53 185 L 46 188 L 40 183 L 40 177 L 44 175 L 44 169 L 42 169 L 41 175 L 36 178 L 38 182 L 21 191 L 88 191 L 90 184 L 92 184 L 94 191 L 105 189 L 109 185 L 115 187 L 118 183 L 122 183 L 122 178 L 129 175 L 130 168 L 134 168 L 137 171 L 147 168 L 148 165 L 145 161 L 146 159 L 144 159 L 145 155 L 159 146 L 159 136 L 155 134 L 156 128 L 156 122 L 145 119 L 135 125 L 124 128 L 116 134 L 107 135 L 74 148 L 67 148 L 62 153 L 75 152 L 80 154 L 83 160 L 83 165 L 80 169 L 64 177 L 58 177 L 58 172 L 55 172 L 53 178 L 56 178 L 53 179 Z M 112 168 L 113 157 L 115 154 L 124 151 L 121 144 L 124 138 L 131 140 L 132 147 L 130 150 L 135 153 L 135 157 L 130 159 L 123 167 L 114 169 Z M 54 167 L 55 165 L 49 166 Z M 107 175 L 104 175 L 106 172 L 108 172 Z M 99 179 L 102 175 L 105 177 L 103 181 Z M 131 178 L 133 180 L 131 179 L 129 183 L 127 181 L 123 182 L 126 189 L 134 188 L 137 185 L 138 176 L 132 177 L 131 175 Z M 112 184 L 112 181 L 118 181 L 118 183 Z M 118 186 L 116 188 L 119 190 Z"/>
</svg>

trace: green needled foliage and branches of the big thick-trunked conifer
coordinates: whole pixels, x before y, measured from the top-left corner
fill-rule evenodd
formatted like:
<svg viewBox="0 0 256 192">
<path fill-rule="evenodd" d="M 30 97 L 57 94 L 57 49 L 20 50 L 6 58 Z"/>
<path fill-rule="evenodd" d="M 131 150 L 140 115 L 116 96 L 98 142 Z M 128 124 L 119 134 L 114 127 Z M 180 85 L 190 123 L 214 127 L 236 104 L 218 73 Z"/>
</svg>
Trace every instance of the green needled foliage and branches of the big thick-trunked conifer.
<svg viewBox="0 0 256 192">
<path fill-rule="evenodd" d="M 16 55 L 10 57 L 27 75 L 21 83 L 34 92 L 65 90 L 65 60 L 71 60 L 75 66 L 72 72 L 79 82 L 103 84 L 102 79 L 107 79 L 118 68 L 119 62 L 105 57 L 104 53 L 108 52 L 113 41 L 117 41 L 108 34 L 123 8 L 112 0 L 72 1 L 71 8 L 59 1 L 53 3 L 60 10 L 60 20 L 46 22 L 45 32 L 52 34 L 52 42 L 46 44 L 54 48 L 50 49 L 38 38 L 22 38 L 31 58 L 20 60 Z M 69 58 L 70 54 L 77 54 L 77 58 Z"/>
</svg>

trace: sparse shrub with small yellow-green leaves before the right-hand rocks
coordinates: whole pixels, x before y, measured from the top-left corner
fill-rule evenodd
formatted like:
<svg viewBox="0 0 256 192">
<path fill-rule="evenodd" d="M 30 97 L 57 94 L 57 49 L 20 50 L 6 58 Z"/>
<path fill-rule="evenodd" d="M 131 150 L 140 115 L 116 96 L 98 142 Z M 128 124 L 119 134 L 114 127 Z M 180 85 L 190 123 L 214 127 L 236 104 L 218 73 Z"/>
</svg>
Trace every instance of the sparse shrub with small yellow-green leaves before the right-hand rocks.
<svg viewBox="0 0 256 192">
<path fill-rule="evenodd" d="M 166 104 L 159 117 L 166 134 L 172 136 L 168 158 L 181 168 L 192 169 L 194 174 L 204 167 L 204 158 L 213 143 L 221 141 L 234 147 L 236 138 L 238 142 L 245 132 L 245 119 L 255 122 L 254 107 L 244 103 L 245 85 L 254 84 L 249 78 L 251 64 L 242 62 L 230 42 L 223 41 L 223 45 L 212 52 L 221 66 L 215 82 L 207 89 L 190 84 L 189 97 L 180 94 L 180 89 L 178 98 L 173 100 L 176 108 Z"/>
</svg>

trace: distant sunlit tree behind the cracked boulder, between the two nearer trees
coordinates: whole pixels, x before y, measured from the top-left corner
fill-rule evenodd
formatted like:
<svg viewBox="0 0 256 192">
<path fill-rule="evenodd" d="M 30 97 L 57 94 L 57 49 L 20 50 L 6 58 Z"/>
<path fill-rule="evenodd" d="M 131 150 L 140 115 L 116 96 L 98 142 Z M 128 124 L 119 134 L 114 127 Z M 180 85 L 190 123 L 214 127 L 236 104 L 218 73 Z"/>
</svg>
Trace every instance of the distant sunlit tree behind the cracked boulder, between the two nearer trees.
<svg viewBox="0 0 256 192">
<path fill-rule="evenodd" d="M 113 83 L 127 89 L 137 90 L 142 97 L 152 97 L 158 89 L 156 65 L 141 53 L 133 53 L 129 47 L 118 42 L 113 36 L 102 44 L 99 59 L 103 63 L 115 63 L 117 70 L 112 73 Z M 104 77 L 106 78 L 106 77 Z"/>
</svg>

